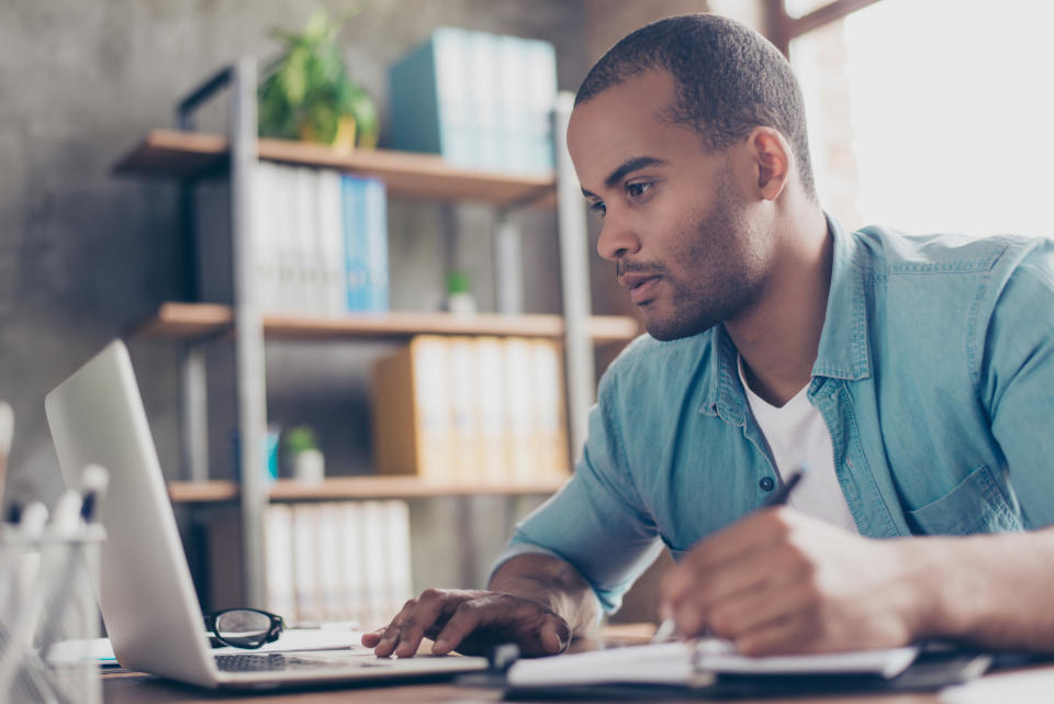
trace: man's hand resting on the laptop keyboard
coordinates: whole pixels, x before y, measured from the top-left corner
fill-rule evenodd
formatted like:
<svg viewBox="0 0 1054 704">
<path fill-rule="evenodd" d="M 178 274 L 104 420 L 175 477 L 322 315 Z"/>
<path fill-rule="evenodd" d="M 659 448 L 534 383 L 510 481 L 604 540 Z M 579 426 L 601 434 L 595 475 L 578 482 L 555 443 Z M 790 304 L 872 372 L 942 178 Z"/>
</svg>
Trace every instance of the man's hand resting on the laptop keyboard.
<svg viewBox="0 0 1054 704">
<path fill-rule="evenodd" d="M 515 642 L 525 656 L 557 655 L 571 644 L 568 622 L 538 602 L 502 592 L 426 589 L 406 602 L 388 626 L 362 636 L 380 657 L 406 658 L 422 638 L 431 651 L 484 655 L 491 646 Z"/>
</svg>

